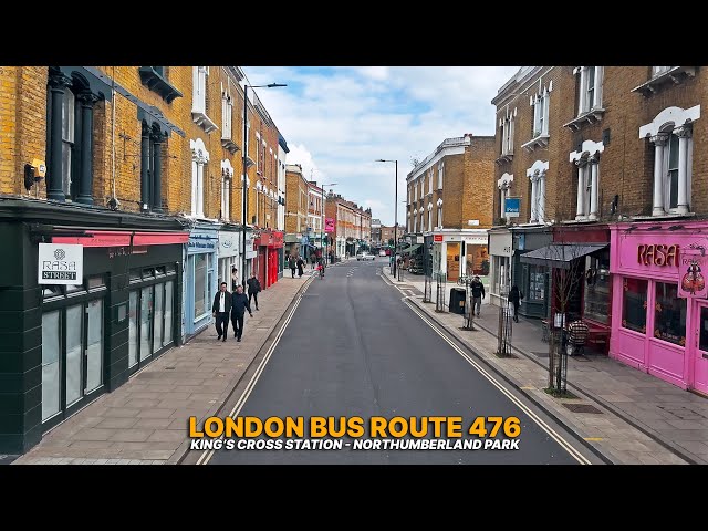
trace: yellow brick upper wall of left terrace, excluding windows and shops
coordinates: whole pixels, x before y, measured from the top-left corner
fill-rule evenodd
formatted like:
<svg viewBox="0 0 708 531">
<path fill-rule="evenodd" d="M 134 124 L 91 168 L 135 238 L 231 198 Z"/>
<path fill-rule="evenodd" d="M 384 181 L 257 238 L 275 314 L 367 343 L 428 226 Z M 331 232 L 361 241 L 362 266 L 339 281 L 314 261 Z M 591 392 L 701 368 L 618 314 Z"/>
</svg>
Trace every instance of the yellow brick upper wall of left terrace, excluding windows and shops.
<svg viewBox="0 0 708 531">
<path fill-rule="evenodd" d="M 139 66 L 97 66 L 103 81 L 113 80 L 132 96 L 157 108 L 164 117 L 185 133 L 171 132 L 162 146 L 162 205 L 164 214 L 191 212 L 192 154 L 190 140 L 200 138 L 209 154 L 204 166 L 204 216 L 206 218 L 240 222 L 241 175 L 243 146 L 243 90 L 232 71 L 223 66 L 209 66 L 207 77 L 206 114 L 217 126 L 207 133 L 192 119 L 194 66 L 165 66 L 164 77 L 183 95 L 167 103 L 158 93 L 140 81 Z M 48 90 L 46 66 L 0 66 L 0 194 L 46 197 L 46 183 L 42 180 L 29 192 L 22 183 L 23 166 L 34 158 L 48 160 Z M 222 92 L 231 96 L 231 139 L 239 147 L 231 153 L 222 142 Z M 107 94 L 110 97 L 110 94 Z M 115 108 L 114 108 L 115 106 Z M 114 101 L 98 101 L 93 116 L 93 200 L 105 207 L 114 196 L 121 210 L 140 209 L 140 135 L 135 102 L 116 92 Z M 275 226 L 278 201 L 278 140 L 279 132 L 264 112 L 258 112 L 249 103 L 250 121 L 249 156 L 257 159 L 256 132 L 266 139 L 264 171 L 257 174 L 249 168 L 248 221 L 257 211 L 260 227 Z M 266 119 L 263 118 L 266 116 Z M 114 119 L 115 118 L 115 119 Z M 273 150 L 271 154 L 270 150 Z M 221 212 L 222 162 L 228 160 L 233 170 L 230 194 L 230 212 Z M 256 192 L 256 184 L 273 190 L 273 198 Z M 115 191 L 114 191 L 115 190 Z M 267 214 L 270 214 L 268 219 Z"/>
</svg>

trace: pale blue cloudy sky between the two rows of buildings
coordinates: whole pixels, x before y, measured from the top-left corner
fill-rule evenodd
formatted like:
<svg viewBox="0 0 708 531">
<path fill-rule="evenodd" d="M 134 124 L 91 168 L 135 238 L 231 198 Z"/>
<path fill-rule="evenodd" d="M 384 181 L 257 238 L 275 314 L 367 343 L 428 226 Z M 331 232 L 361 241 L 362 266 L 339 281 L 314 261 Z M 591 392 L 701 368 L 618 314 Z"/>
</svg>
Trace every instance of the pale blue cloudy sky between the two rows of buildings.
<svg viewBox="0 0 708 531">
<path fill-rule="evenodd" d="M 335 194 L 398 222 L 406 176 L 446 138 L 494 134 L 497 91 L 518 66 L 243 66 L 288 143 L 288 164 Z"/>
</svg>

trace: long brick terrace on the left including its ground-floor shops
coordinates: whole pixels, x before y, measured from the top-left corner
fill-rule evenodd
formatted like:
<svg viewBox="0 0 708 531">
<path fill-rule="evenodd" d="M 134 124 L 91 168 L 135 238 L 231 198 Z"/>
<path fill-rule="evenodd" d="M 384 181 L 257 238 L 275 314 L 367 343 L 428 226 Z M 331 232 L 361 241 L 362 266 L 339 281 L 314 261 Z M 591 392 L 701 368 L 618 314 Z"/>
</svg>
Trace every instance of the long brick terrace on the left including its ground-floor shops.
<svg viewBox="0 0 708 531">
<path fill-rule="evenodd" d="M 237 66 L 0 67 L 0 235 L 19 257 L 2 266 L 0 452 L 211 323 L 242 257 L 246 81 Z M 253 159 L 254 129 L 274 152 L 281 138 L 259 105 Z M 248 171 L 249 189 L 268 188 L 266 227 L 285 153 Z"/>
</svg>

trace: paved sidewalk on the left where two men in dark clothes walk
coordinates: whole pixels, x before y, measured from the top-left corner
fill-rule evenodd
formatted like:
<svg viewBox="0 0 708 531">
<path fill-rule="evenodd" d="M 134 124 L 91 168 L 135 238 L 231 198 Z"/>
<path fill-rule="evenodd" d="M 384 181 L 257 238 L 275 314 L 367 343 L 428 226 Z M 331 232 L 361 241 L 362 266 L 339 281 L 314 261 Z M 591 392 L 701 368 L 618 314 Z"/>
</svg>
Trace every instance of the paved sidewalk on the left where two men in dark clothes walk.
<svg viewBox="0 0 708 531">
<path fill-rule="evenodd" d="M 178 464 L 189 447 L 188 417 L 217 413 L 313 274 L 284 274 L 259 293 L 260 311 L 246 315 L 240 343 L 230 323 L 226 343 L 210 325 L 54 427 L 12 465 Z"/>
</svg>

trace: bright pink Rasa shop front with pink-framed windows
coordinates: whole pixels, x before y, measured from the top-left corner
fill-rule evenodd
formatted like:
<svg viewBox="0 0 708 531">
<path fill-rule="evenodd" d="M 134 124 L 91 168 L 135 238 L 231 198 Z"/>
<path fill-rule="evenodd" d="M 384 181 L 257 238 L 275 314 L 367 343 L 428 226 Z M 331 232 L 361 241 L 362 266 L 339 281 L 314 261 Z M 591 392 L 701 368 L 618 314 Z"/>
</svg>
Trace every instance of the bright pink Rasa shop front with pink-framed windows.
<svg viewBox="0 0 708 531">
<path fill-rule="evenodd" d="M 708 395 L 708 221 L 610 230 L 610 356 Z"/>
</svg>

